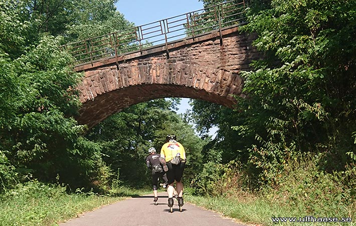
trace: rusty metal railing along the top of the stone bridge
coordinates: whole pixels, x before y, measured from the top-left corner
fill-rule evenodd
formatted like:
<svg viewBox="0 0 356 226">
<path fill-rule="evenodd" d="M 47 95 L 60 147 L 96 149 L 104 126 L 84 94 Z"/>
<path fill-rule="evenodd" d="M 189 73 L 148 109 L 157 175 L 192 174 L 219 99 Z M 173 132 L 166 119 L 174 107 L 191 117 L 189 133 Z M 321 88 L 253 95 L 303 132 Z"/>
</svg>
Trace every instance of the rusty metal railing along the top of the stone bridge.
<svg viewBox="0 0 356 226">
<path fill-rule="evenodd" d="M 206 9 L 163 19 L 122 31 L 70 43 L 66 49 L 75 58 L 75 65 L 114 58 L 132 51 L 141 51 L 185 37 L 193 39 L 205 32 L 246 23 L 247 0 L 233 0 Z"/>
</svg>

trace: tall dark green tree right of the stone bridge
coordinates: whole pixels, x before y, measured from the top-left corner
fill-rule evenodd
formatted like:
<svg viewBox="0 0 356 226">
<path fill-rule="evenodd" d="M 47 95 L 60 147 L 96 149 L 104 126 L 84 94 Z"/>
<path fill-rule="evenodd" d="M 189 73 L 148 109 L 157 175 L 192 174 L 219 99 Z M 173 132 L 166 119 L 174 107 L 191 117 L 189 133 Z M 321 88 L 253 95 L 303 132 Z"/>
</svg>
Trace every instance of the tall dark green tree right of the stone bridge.
<svg viewBox="0 0 356 226">
<path fill-rule="evenodd" d="M 259 35 L 254 45 L 268 58 L 244 73 L 253 100 L 242 102 L 251 113 L 269 116 L 268 135 L 259 139 L 265 148 L 282 144 L 280 158 L 317 150 L 333 170 L 354 150 L 355 7 L 353 1 L 272 1 L 251 12 L 245 30 Z"/>
</svg>

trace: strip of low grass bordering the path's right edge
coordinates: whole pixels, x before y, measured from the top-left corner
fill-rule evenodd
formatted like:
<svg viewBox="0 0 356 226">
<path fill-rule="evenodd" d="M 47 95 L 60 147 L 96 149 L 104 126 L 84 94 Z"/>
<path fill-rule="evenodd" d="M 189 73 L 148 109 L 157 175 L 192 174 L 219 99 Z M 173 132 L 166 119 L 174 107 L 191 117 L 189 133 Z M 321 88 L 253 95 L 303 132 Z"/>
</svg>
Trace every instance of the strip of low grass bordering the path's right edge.
<svg viewBox="0 0 356 226">
<path fill-rule="evenodd" d="M 272 217 L 303 217 L 306 214 L 300 213 L 299 209 L 293 206 L 288 206 L 280 202 L 271 202 L 262 197 L 249 197 L 249 198 L 232 198 L 232 197 L 208 197 L 208 196 L 193 196 L 185 195 L 186 200 L 206 209 L 218 212 L 226 217 L 231 217 L 237 222 L 245 223 L 246 225 L 300 225 L 300 226 L 321 226 L 321 225 L 356 225 L 355 219 L 352 222 L 273 222 Z M 335 217 L 354 217 L 354 210 L 350 209 L 351 206 L 340 206 L 342 212 L 335 213 Z M 350 215 L 350 211 L 353 212 Z M 322 216 L 314 215 L 313 217 L 318 220 L 318 217 L 331 217 L 332 215 Z M 333 217 L 333 216 L 332 216 Z M 307 219 L 304 219 L 305 221 Z M 320 219 L 320 220 L 325 220 Z"/>
</svg>

